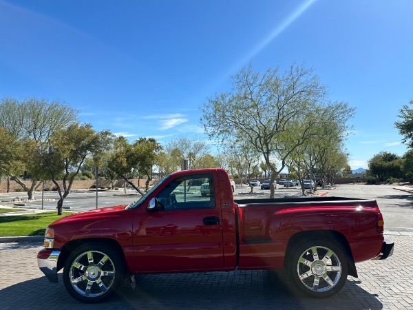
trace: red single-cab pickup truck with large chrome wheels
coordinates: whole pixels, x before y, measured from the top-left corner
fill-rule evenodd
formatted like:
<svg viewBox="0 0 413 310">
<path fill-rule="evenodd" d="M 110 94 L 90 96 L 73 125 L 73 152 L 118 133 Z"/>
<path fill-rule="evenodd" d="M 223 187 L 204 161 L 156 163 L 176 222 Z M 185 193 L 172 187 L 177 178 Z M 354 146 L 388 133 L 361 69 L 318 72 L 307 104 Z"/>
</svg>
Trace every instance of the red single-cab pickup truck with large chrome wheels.
<svg viewBox="0 0 413 310">
<path fill-rule="evenodd" d="M 195 182 L 196 180 L 196 182 Z M 200 186 L 209 183 L 209 193 Z M 224 169 L 175 172 L 137 203 L 66 216 L 45 232 L 39 268 L 77 300 L 99 302 L 136 273 L 286 268 L 297 291 L 327 297 L 354 262 L 392 255 L 375 200 L 233 199 Z"/>
</svg>

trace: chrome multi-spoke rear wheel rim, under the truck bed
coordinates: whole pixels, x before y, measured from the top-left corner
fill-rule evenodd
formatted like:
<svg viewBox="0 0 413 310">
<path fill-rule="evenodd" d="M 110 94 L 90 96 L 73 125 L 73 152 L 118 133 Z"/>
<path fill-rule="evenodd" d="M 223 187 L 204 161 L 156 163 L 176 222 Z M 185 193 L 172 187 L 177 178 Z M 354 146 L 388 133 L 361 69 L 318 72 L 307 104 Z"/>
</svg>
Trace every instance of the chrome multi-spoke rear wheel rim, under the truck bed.
<svg viewBox="0 0 413 310">
<path fill-rule="evenodd" d="M 304 251 L 297 262 L 301 283 L 310 291 L 326 292 L 337 285 L 341 278 L 339 256 L 328 247 L 315 246 Z"/>
</svg>

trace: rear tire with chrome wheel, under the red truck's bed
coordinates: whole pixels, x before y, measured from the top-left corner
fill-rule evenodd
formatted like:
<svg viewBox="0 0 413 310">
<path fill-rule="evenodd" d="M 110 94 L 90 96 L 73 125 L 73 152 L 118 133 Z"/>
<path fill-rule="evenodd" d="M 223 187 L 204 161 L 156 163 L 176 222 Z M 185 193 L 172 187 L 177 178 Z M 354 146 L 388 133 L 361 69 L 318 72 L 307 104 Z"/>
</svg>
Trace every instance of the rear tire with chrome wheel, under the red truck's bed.
<svg viewBox="0 0 413 310">
<path fill-rule="evenodd" d="M 346 283 L 348 261 L 343 249 L 323 239 L 305 240 L 287 258 L 292 289 L 313 298 L 334 295 Z"/>
</svg>

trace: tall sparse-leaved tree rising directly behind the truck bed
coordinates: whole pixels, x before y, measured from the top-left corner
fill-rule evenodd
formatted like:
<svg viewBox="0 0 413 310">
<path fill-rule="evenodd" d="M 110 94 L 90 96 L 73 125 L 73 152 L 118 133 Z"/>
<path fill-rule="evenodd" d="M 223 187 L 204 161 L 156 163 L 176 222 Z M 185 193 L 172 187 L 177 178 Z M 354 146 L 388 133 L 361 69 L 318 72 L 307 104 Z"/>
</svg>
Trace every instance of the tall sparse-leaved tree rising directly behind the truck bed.
<svg viewBox="0 0 413 310">
<path fill-rule="evenodd" d="M 320 118 L 312 116 L 328 103 L 326 87 L 313 70 L 296 65 L 284 74 L 278 69 L 253 72 L 250 65 L 232 81 L 231 91 L 215 95 L 204 104 L 201 122 L 211 137 L 224 141 L 235 136 L 248 141 L 264 157 L 273 183 L 288 156 L 318 136 L 311 129 Z M 279 157 L 279 167 L 271 162 L 273 156 Z"/>
</svg>

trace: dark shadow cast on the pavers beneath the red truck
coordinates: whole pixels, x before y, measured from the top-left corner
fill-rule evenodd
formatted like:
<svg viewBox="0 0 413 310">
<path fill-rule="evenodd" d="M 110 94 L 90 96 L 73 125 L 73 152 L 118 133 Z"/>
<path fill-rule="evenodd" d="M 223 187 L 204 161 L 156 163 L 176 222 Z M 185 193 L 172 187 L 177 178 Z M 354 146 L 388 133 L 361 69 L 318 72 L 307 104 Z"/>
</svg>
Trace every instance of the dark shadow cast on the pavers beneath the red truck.
<svg viewBox="0 0 413 310">
<path fill-rule="evenodd" d="M 294 296 L 284 271 L 166 273 L 136 276 L 106 302 L 83 304 L 45 277 L 0 290 L 1 309 L 382 309 L 377 295 L 349 278 L 331 298 Z M 2 278 L 4 280 L 4 278 Z"/>
</svg>

